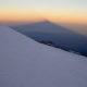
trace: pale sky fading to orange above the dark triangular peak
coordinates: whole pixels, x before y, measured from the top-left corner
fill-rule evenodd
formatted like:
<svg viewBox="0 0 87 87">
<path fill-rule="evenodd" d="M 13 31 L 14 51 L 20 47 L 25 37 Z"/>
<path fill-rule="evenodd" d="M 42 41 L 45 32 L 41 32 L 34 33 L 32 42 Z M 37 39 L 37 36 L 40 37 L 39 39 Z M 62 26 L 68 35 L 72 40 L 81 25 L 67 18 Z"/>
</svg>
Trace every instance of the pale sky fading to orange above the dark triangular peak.
<svg viewBox="0 0 87 87">
<path fill-rule="evenodd" d="M 87 0 L 0 0 L 0 22 L 42 20 L 87 25 Z"/>
</svg>

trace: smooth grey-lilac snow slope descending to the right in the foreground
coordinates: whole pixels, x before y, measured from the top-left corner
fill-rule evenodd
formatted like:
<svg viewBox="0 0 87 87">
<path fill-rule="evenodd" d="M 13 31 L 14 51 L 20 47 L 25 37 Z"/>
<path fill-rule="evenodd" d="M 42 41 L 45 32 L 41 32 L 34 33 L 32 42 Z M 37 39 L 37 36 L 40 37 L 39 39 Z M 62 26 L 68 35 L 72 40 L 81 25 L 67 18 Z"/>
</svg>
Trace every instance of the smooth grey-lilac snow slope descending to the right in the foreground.
<svg viewBox="0 0 87 87">
<path fill-rule="evenodd" d="M 87 59 L 0 24 L 0 87 L 87 87 Z"/>
</svg>

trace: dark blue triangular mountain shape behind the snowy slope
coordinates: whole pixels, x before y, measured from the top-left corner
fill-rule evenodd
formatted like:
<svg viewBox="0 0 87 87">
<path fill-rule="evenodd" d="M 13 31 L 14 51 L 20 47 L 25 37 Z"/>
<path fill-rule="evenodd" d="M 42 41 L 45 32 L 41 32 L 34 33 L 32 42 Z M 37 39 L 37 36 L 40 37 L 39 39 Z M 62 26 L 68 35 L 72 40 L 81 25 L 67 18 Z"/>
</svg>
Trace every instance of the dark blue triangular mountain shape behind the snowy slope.
<svg viewBox="0 0 87 87">
<path fill-rule="evenodd" d="M 13 28 L 37 41 L 51 40 L 57 46 L 87 54 L 87 37 L 51 22 L 32 23 Z"/>
</svg>

